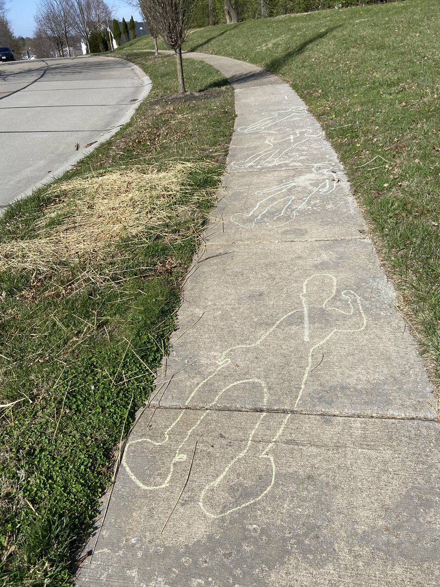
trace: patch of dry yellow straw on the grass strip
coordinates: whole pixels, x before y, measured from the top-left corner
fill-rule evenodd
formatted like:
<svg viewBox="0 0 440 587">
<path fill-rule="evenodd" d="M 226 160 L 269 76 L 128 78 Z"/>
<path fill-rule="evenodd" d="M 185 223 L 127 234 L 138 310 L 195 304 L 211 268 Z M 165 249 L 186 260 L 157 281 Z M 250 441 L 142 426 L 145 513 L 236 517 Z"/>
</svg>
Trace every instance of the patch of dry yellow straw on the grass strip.
<svg viewBox="0 0 440 587">
<path fill-rule="evenodd" d="M 36 224 L 39 236 L 0 243 L 0 271 L 50 270 L 65 261 L 102 257 L 121 237 L 147 228 L 151 234 L 172 230 L 207 197 L 190 185 L 190 174 L 202 167 L 131 168 L 53 185 L 48 194 L 57 201 Z"/>
</svg>

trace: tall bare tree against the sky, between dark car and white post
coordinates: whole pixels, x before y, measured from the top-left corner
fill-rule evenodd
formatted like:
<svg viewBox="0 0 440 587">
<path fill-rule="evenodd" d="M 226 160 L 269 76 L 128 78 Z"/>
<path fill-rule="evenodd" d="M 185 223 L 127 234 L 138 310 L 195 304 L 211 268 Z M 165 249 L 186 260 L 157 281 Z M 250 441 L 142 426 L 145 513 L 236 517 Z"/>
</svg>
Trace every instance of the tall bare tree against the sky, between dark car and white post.
<svg viewBox="0 0 440 587">
<path fill-rule="evenodd" d="M 69 0 L 40 0 L 35 23 L 40 31 L 46 31 L 57 52 L 64 56 L 64 47 L 70 57 L 69 39 L 74 29 L 75 15 Z"/>
</svg>

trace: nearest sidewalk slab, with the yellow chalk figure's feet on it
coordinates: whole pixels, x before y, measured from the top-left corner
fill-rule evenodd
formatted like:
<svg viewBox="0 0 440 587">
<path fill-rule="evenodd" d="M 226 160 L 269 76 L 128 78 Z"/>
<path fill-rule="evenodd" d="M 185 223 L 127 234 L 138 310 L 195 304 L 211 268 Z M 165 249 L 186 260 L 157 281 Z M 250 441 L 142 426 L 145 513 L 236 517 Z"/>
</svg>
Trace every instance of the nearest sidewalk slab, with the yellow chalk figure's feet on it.
<svg viewBox="0 0 440 587">
<path fill-rule="evenodd" d="M 179 417 L 150 410 L 131 436 L 79 585 L 438 585 L 436 424 Z"/>
</svg>

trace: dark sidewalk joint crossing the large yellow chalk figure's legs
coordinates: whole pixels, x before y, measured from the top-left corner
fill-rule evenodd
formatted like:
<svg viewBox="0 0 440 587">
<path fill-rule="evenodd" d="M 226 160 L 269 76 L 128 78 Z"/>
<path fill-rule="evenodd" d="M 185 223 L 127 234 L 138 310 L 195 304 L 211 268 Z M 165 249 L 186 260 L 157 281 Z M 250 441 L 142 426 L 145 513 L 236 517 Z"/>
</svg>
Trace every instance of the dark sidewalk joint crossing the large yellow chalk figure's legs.
<svg viewBox="0 0 440 587">
<path fill-rule="evenodd" d="M 246 409 L 239 407 L 202 407 L 202 406 L 150 406 L 151 409 L 155 410 L 188 410 L 188 411 L 226 411 L 233 413 L 251 413 L 251 414 L 292 414 L 293 416 L 318 416 L 318 417 L 330 417 L 330 418 L 351 418 L 351 419 L 364 419 L 364 420 L 409 420 L 417 422 L 436 422 L 440 423 L 438 417 L 432 416 L 398 416 L 397 414 L 337 414 L 334 412 L 327 411 L 301 411 L 301 410 L 289 410 L 289 409 Z"/>
</svg>

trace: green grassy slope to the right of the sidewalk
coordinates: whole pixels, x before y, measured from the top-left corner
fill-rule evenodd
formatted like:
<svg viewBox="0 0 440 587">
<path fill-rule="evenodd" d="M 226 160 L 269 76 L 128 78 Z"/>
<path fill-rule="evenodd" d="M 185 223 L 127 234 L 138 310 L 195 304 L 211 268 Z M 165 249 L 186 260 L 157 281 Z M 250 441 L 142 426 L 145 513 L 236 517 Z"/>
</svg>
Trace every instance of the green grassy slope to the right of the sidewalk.
<svg viewBox="0 0 440 587">
<path fill-rule="evenodd" d="M 256 63 L 305 100 L 346 167 L 437 380 L 439 31 L 438 0 L 405 0 L 198 29 L 185 45 Z M 150 37 L 131 42 L 152 47 Z"/>
</svg>

